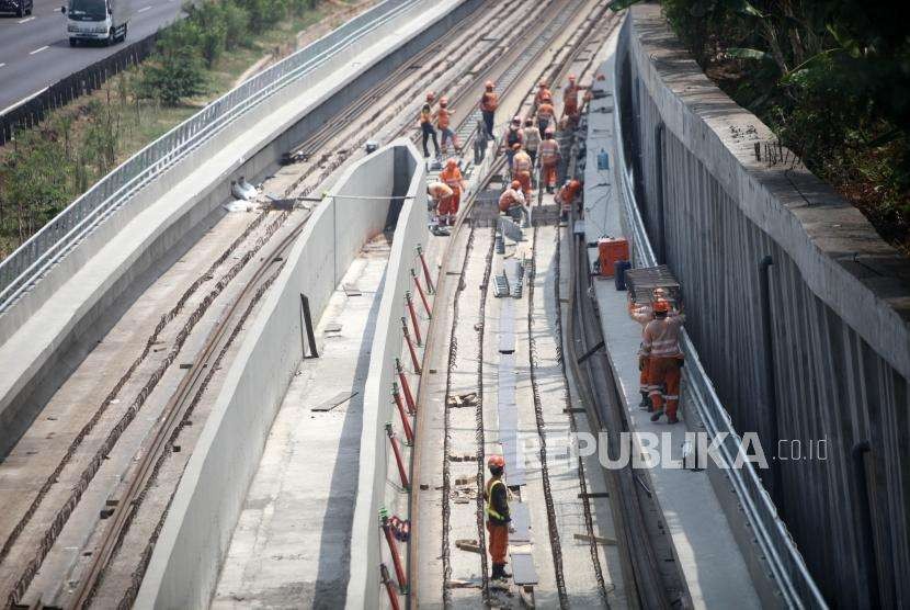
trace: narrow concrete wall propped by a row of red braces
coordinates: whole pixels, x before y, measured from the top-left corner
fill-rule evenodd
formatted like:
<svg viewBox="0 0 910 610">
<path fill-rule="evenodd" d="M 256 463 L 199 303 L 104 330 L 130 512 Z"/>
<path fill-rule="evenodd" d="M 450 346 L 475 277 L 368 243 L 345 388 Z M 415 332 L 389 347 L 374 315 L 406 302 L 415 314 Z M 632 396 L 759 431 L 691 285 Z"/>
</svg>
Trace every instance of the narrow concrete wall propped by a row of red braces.
<svg viewBox="0 0 910 610">
<path fill-rule="evenodd" d="M 401 316 L 406 315 L 405 292 L 412 290 L 410 269 L 420 269 L 416 259 L 417 246 L 429 238 L 426 225 L 426 176 L 417 148 L 400 147 L 408 163 L 417 171 L 405 184 L 406 194 L 395 241 L 391 245 L 388 268 L 383 284 L 376 334 L 371 349 L 369 375 L 364 386 L 363 431 L 361 433 L 357 500 L 351 530 L 351 579 L 348 584 L 348 608 L 379 608 L 385 605 L 379 583 L 379 563 L 385 542 L 378 527 L 379 508 L 386 504 L 389 476 L 389 441 L 385 422 L 396 416 L 391 402 L 391 384 L 396 380 L 395 359 L 401 355 Z M 356 561 L 354 561 L 356 557 Z M 390 564 L 389 569 L 391 571 Z"/>
</svg>

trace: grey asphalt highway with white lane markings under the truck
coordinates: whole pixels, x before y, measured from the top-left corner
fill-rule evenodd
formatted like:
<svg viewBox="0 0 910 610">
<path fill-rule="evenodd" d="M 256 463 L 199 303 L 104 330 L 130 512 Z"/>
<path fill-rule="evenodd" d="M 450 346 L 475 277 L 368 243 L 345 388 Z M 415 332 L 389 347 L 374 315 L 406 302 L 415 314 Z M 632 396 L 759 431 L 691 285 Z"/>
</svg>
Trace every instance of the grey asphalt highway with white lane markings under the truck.
<svg viewBox="0 0 910 610">
<path fill-rule="evenodd" d="M 147 36 L 173 21 L 180 0 L 127 0 L 132 16 L 126 43 Z M 0 114 L 64 77 L 124 47 L 101 43 L 69 46 L 65 0 L 35 0 L 32 14 L 0 14 Z"/>
</svg>

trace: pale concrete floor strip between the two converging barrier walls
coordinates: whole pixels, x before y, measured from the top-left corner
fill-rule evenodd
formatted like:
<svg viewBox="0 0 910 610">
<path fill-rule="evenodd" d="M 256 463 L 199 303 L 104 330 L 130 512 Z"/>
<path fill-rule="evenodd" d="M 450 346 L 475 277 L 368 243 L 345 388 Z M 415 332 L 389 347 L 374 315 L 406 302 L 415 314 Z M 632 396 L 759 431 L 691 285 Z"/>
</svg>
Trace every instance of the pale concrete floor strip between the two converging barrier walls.
<svg viewBox="0 0 910 610">
<path fill-rule="evenodd" d="M 221 568 L 213 608 L 341 608 L 348 588 L 364 382 L 389 248 L 379 236 L 351 264 L 272 425 Z M 346 296 L 342 285 L 361 295 Z M 340 324 L 338 332 L 327 330 Z M 339 392 L 356 393 L 315 413 Z"/>
</svg>

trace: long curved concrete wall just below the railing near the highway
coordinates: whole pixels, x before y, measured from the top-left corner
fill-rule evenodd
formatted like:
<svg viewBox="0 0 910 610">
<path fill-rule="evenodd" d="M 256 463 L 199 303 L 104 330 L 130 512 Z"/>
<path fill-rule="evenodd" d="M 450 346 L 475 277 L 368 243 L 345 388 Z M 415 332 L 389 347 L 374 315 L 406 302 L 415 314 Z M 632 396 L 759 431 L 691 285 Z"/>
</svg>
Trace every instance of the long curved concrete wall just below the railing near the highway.
<svg viewBox="0 0 910 610">
<path fill-rule="evenodd" d="M 354 64 L 354 52 L 341 53 L 281 90 L 139 191 L 0 316 L 0 455 L 132 297 L 217 222 L 231 180 L 246 176 L 255 181 L 273 172 L 284 151 L 437 39 L 479 1 L 420 3 L 371 35 L 371 42 L 384 45 L 371 61 Z M 81 276 L 86 280 L 73 282 Z M 67 289 L 70 294 L 55 301 Z M 36 341 L 38 330 L 43 336 Z"/>
</svg>

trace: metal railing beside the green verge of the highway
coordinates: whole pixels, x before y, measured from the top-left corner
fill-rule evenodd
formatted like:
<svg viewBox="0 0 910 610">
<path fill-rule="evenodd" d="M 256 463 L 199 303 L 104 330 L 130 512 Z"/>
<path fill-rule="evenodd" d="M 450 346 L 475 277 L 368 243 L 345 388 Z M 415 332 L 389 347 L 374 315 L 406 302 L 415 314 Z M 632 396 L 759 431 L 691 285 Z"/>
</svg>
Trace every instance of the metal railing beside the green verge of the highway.
<svg viewBox="0 0 910 610">
<path fill-rule="evenodd" d="M 0 262 L 0 314 L 99 224 L 150 181 L 184 159 L 247 111 L 304 78 L 329 57 L 419 0 L 386 0 L 271 68 L 243 81 L 162 135 L 69 204 Z"/>
</svg>

